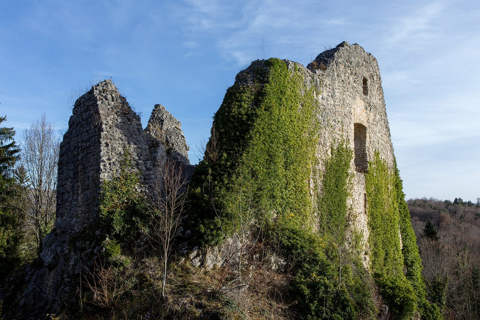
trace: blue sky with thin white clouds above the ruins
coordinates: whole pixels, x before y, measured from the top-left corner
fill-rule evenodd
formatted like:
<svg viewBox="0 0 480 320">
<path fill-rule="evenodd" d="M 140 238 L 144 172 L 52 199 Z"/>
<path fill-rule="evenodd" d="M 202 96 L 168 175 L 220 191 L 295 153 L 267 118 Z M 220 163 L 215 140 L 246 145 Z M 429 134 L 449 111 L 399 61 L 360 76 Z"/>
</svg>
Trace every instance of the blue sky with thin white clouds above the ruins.
<svg viewBox="0 0 480 320">
<path fill-rule="evenodd" d="M 471 0 L 1 0 L 2 124 L 18 140 L 45 112 L 64 131 L 71 96 L 111 77 L 144 125 L 165 105 L 196 162 L 240 69 L 270 56 L 306 65 L 343 40 L 378 60 L 407 198 L 480 197 Z"/>
</svg>

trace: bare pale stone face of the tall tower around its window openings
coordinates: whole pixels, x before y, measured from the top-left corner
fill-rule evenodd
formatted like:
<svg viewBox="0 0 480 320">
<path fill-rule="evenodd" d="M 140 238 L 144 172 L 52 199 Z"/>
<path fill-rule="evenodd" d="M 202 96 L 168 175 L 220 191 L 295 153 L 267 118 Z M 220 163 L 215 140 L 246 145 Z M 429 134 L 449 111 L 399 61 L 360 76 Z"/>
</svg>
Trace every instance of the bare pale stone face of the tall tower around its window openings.
<svg viewBox="0 0 480 320">
<path fill-rule="evenodd" d="M 354 150 L 352 196 L 355 228 L 363 234 L 363 260 L 368 264 L 365 172 L 367 161 L 378 151 L 390 168 L 393 146 L 386 116 L 380 70 L 373 55 L 358 44 L 342 42 L 320 53 L 307 68 L 321 81 L 317 157 L 329 156 L 330 147 L 345 139 Z M 322 161 L 320 161 L 321 163 Z"/>
</svg>

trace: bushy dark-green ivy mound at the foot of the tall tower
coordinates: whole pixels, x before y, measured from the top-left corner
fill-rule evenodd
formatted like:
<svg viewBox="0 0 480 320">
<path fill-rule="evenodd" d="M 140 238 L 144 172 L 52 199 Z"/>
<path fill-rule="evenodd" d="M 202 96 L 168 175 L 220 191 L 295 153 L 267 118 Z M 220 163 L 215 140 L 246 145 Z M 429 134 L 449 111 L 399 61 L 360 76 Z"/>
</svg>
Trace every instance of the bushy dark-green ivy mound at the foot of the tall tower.
<svg viewBox="0 0 480 320">
<path fill-rule="evenodd" d="M 292 265 L 293 280 L 289 292 L 296 301 L 301 319 L 371 318 L 376 313 L 369 275 L 359 259 L 343 267 L 338 287 L 336 260 L 318 232 L 294 224 L 275 221 L 268 227 L 270 247 L 280 247 L 280 253 Z"/>
</svg>

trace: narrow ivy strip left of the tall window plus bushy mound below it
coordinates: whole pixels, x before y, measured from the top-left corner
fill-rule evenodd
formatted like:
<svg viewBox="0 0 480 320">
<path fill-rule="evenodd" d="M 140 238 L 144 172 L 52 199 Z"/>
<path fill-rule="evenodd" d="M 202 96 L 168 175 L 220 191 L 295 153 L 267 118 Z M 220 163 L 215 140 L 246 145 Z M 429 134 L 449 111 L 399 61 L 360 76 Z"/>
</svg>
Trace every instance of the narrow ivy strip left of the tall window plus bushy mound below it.
<svg viewBox="0 0 480 320">
<path fill-rule="evenodd" d="M 345 246 L 351 157 L 352 150 L 342 141 L 325 162 L 319 231 L 298 226 L 288 216 L 268 228 L 268 239 L 277 242 L 271 246 L 279 244 L 281 253 L 296 261 L 290 292 L 302 319 L 371 318 L 376 313 L 370 277 L 355 248 Z"/>
</svg>

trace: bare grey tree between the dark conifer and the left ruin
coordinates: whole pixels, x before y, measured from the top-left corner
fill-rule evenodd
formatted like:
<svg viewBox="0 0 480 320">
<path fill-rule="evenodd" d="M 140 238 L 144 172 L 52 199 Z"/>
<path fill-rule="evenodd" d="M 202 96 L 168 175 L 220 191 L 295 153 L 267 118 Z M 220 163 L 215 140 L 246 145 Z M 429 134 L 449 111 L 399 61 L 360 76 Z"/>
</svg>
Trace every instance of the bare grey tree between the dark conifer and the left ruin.
<svg viewBox="0 0 480 320">
<path fill-rule="evenodd" d="M 55 220 L 59 145 L 60 139 L 45 114 L 23 132 L 20 158 L 26 170 L 27 222 L 35 235 L 37 254 Z"/>
</svg>

